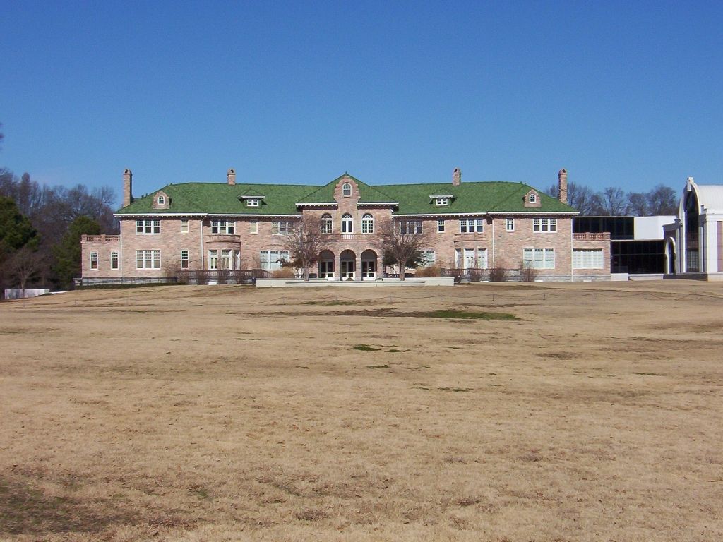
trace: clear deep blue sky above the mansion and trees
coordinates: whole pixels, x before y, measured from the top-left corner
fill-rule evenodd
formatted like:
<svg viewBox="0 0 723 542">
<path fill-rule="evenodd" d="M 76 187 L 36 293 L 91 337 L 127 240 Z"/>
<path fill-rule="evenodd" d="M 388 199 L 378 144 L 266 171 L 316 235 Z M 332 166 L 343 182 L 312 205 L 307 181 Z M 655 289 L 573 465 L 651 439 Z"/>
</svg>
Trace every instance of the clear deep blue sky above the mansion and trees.
<svg viewBox="0 0 723 542">
<path fill-rule="evenodd" d="M 723 3 L 0 8 L 0 165 L 185 181 L 723 183 Z"/>
</svg>

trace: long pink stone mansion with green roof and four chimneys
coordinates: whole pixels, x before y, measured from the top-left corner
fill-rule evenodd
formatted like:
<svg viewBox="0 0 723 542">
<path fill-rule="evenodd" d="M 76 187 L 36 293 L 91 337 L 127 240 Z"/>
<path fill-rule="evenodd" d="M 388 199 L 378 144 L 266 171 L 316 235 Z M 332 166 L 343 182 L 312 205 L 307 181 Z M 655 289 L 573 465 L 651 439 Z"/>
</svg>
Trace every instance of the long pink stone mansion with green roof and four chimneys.
<svg viewBox="0 0 723 542">
<path fill-rule="evenodd" d="M 394 220 L 428 233 L 427 264 L 456 269 L 534 267 L 542 280 L 609 280 L 609 233 L 573 233 L 567 172 L 559 198 L 518 182 L 462 182 L 458 168 L 439 184 L 370 186 L 348 173 L 323 186 L 168 184 L 139 199 L 123 176 L 120 235 L 84 236 L 82 278 L 153 280 L 178 270 L 262 269 L 288 259 L 283 236 L 306 215 L 322 220 L 328 249 L 315 274 L 375 280 L 383 274 L 378 224 Z"/>
</svg>

